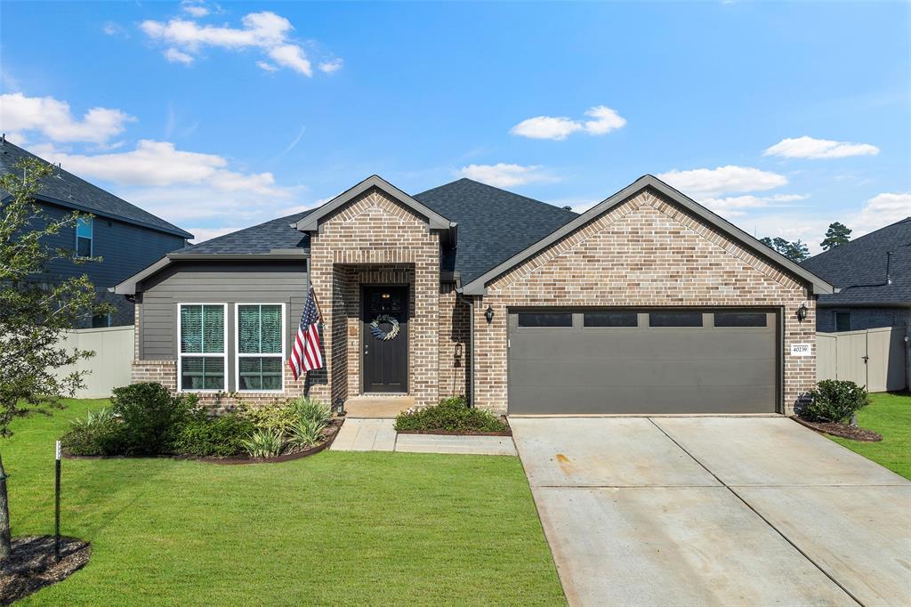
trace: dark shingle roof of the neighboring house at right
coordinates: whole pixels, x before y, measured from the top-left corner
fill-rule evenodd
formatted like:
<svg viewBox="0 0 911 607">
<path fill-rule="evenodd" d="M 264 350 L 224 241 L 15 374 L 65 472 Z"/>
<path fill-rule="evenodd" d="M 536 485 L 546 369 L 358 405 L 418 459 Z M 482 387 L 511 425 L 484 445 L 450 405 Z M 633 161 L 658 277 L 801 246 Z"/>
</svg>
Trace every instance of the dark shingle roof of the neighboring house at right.
<svg viewBox="0 0 911 607">
<path fill-rule="evenodd" d="M 885 281 L 886 252 L 892 252 Z M 801 263 L 841 289 L 820 304 L 911 304 L 911 217 L 896 221 Z"/>
</svg>

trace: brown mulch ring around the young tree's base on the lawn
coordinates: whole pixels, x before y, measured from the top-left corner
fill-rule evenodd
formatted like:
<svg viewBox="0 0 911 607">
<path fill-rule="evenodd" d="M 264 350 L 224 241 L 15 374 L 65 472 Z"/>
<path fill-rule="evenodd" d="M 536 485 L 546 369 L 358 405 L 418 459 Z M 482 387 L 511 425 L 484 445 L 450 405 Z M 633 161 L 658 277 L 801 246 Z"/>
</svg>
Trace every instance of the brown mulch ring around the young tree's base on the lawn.
<svg viewBox="0 0 911 607">
<path fill-rule="evenodd" d="M 54 537 L 13 539 L 13 555 L 0 565 L 0 605 L 10 605 L 45 586 L 66 580 L 88 562 L 87 541 L 60 538 L 60 561 L 54 560 Z"/>
</svg>

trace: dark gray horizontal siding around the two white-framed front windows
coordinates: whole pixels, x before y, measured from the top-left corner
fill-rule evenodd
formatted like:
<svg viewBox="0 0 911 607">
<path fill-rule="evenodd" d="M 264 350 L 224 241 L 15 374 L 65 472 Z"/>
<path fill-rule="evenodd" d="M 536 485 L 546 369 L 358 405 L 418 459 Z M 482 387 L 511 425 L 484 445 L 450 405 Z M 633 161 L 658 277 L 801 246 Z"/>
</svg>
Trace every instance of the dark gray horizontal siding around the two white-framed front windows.
<svg viewBox="0 0 911 607">
<path fill-rule="evenodd" d="M 177 358 L 178 304 L 228 304 L 228 376 L 234 387 L 234 304 L 285 304 L 285 353 L 303 312 L 307 273 L 300 262 L 179 262 L 143 283 L 137 301 L 139 358 Z"/>
</svg>

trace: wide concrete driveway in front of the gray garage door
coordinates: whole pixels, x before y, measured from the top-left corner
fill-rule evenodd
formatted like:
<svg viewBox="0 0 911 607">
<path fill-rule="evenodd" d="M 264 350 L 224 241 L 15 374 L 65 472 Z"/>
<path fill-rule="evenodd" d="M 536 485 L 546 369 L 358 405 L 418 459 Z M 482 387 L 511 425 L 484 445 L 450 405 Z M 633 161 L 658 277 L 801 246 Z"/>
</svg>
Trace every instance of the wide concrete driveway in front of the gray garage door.
<svg viewBox="0 0 911 607">
<path fill-rule="evenodd" d="M 911 605 L 911 482 L 784 417 L 510 418 L 574 605 Z"/>
</svg>

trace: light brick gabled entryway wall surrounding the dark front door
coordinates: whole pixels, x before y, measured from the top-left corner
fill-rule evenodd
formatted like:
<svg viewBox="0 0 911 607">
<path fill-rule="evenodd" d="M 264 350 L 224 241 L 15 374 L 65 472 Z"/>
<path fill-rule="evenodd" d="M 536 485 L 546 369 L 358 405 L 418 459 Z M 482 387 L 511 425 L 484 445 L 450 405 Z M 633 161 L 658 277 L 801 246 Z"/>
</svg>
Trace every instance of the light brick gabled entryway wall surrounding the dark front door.
<svg viewBox="0 0 911 607">
<path fill-rule="evenodd" d="M 408 393 L 418 405 L 438 399 L 439 235 L 427 221 L 370 190 L 324 218 L 311 239 L 311 280 L 322 302 L 326 381 L 312 392 L 338 403 L 360 394 L 360 284 L 406 280 Z"/>
</svg>

